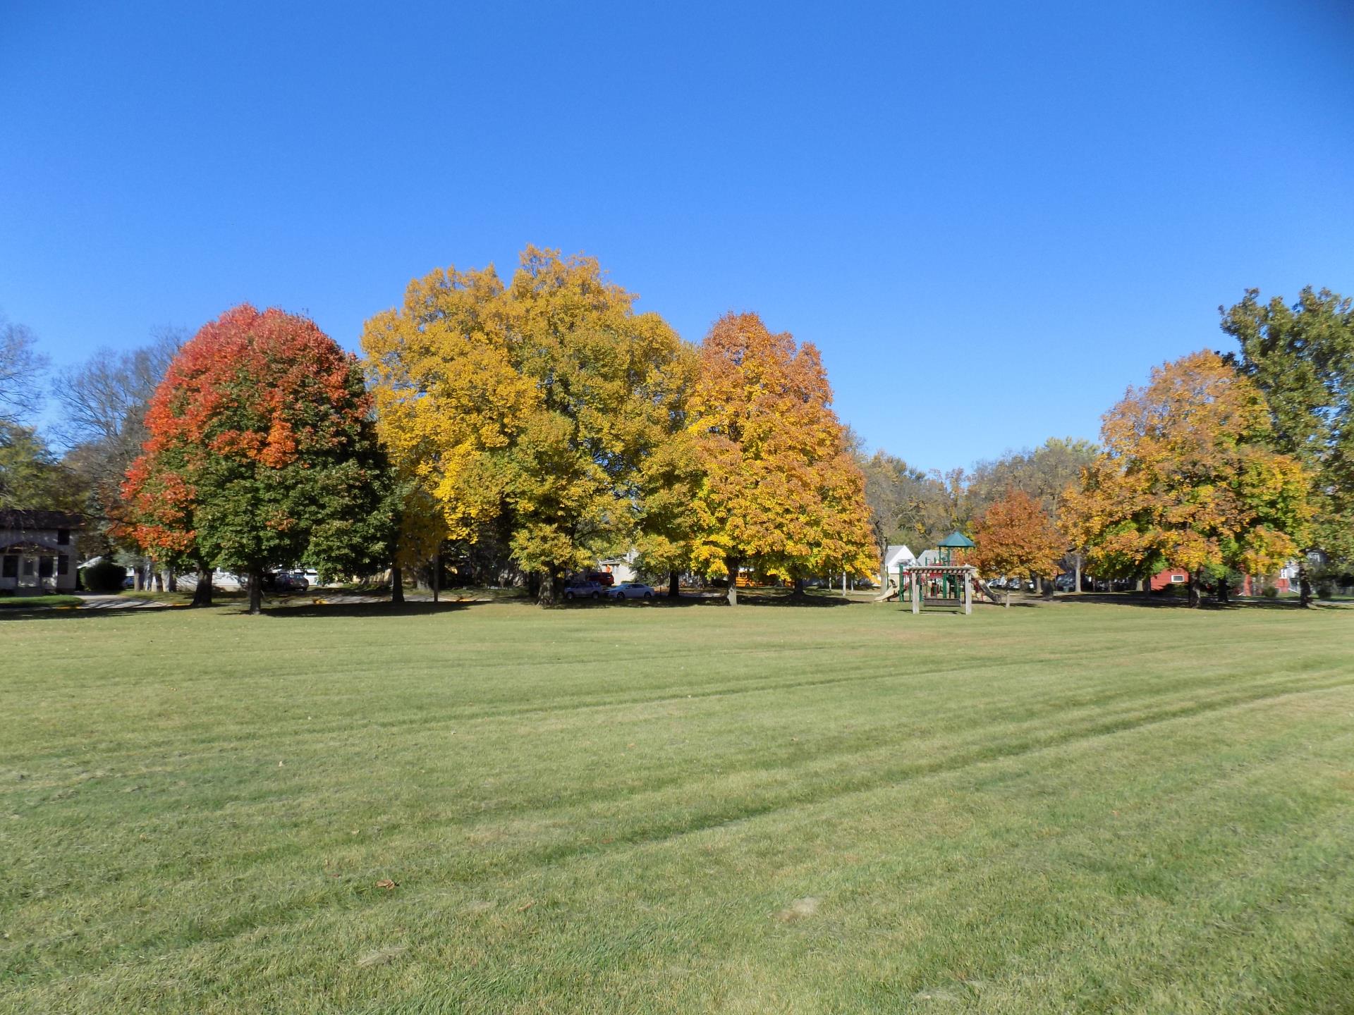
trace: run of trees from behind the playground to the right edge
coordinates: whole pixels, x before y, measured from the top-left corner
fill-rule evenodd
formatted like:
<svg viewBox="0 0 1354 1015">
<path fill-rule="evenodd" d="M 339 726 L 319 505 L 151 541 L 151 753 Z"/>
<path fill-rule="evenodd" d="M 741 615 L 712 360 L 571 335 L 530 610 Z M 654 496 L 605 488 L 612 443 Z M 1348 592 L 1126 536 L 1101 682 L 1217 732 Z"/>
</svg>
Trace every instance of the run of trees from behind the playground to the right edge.
<svg viewBox="0 0 1354 1015">
<path fill-rule="evenodd" d="M 1293 306 L 1257 291 L 1220 309 L 1239 349 L 1152 371 L 1104 418 L 1101 444 L 1051 440 L 971 472 L 922 474 L 876 452 L 864 460 L 879 551 L 969 529 L 990 574 L 1082 567 L 1150 581 L 1166 567 L 1225 600 L 1242 575 L 1300 566 L 1304 551 L 1354 559 L 1354 311 L 1307 288 Z"/>
</svg>

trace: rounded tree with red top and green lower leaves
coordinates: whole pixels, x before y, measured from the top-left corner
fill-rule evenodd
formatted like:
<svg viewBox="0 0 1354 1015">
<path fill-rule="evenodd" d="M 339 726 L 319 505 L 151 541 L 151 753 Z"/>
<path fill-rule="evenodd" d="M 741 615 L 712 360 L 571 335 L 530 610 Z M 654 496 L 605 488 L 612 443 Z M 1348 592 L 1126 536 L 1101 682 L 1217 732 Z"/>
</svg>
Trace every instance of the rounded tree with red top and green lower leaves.
<svg viewBox="0 0 1354 1015">
<path fill-rule="evenodd" d="M 305 317 L 249 304 L 171 363 L 123 484 L 122 531 L 157 560 L 249 575 L 309 563 L 368 570 L 390 554 L 395 498 L 356 357 Z M 203 581 L 207 579 L 207 581 Z"/>
</svg>

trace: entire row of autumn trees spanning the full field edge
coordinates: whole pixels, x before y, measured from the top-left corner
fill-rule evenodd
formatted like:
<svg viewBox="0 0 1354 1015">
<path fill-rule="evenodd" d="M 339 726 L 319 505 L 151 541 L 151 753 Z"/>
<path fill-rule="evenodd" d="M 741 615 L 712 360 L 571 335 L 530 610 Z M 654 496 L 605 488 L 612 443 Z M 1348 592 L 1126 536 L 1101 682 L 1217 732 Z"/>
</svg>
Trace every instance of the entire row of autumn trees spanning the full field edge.
<svg viewBox="0 0 1354 1015">
<path fill-rule="evenodd" d="M 362 359 L 306 318 L 236 307 L 58 375 L 60 460 L 23 425 L 43 363 L 7 325 L 0 502 L 83 509 L 111 545 L 202 577 L 393 566 L 398 590 L 399 568 L 455 548 L 542 602 L 630 548 L 676 594 L 689 571 L 868 574 L 890 543 L 964 529 L 984 572 L 1185 567 L 1196 601 L 1304 548 L 1354 552 L 1354 314 L 1330 292 L 1247 292 L 1223 311 L 1238 351 L 1154 371 L 1099 445 L 948 474 L 864 453 L 812 345 L 728 314 L 692 346 L 634 302 L 594 260 L 528 248 L 506 284 L 492 267 L 414 280 Z"/>
</svg>

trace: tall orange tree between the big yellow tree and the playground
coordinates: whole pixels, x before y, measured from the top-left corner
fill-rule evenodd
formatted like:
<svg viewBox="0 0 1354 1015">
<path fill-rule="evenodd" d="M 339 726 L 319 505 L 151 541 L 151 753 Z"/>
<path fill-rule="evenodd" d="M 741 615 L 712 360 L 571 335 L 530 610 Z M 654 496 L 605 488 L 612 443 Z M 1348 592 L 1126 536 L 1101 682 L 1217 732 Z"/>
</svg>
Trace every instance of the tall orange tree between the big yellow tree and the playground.
<svg viewBox="0 0 1354 1015">
<path fill-rule="evenodd" d="M 795 579 L 871 567 L 865 479 L 811 344 L 756 314 L 722 317 L 701 345 L 691 432 L 703 471 L 692 556 L 727 575 L 731 605 L 743 564 Z"/>
</svg>

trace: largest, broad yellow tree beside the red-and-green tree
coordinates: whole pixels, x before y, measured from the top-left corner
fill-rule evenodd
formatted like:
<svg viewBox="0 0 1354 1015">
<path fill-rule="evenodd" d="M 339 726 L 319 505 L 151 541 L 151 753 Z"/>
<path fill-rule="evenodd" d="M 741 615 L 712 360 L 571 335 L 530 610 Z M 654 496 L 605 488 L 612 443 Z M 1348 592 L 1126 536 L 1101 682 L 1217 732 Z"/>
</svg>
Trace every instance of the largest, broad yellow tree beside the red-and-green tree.
<svg viewBox="0 0 1354 1015">
<path fill-rule="evenodd" d="M 634 300 L 594 258 L 527 248 L 506 287 L 492 267 L 435 271 L 363 333 L 399 475 L 450 539 L 506 517 L 543 602 L 632 540 L 640 466 L 686 394 L 681 340 Z"/>
</svg>

